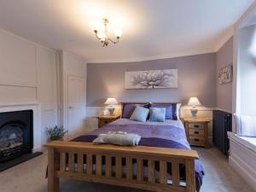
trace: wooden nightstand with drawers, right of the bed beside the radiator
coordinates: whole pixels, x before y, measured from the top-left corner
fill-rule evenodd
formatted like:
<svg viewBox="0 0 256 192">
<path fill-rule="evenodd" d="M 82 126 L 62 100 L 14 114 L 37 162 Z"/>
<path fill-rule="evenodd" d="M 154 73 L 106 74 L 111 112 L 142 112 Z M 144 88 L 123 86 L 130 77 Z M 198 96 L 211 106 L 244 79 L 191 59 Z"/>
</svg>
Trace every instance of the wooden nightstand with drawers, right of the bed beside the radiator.
<svg viewBox="0 0 256 192">
<path fill-rule="evenodd" d="M 183 118 L 190 145 L 208 148 L 208 124 L 210 118 Z"/>
</svg>

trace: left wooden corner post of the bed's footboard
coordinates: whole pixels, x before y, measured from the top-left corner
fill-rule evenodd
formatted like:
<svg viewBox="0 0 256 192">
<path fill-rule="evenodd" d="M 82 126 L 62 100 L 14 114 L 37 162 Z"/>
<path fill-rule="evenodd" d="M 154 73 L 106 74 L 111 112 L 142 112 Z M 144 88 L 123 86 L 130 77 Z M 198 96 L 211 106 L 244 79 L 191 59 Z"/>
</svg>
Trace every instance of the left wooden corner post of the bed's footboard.
<svg viewBox="0 0 256 192">
<path fill-rule="evenodd" d="M 48 192 L 60 191 L 60 179 L 55 177 L 55 171 L 58 167 L 58 157 L 55 148 L 48 148 Z"/>
</svg>

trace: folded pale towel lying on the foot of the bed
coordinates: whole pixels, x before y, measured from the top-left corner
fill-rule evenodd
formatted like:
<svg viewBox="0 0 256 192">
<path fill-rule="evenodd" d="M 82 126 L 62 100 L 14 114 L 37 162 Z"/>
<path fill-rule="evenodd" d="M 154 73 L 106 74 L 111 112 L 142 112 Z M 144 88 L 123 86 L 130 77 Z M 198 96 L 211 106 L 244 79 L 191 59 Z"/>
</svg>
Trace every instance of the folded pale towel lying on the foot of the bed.
<svg viewBox="0 0 256 192">
<path fill-rule="evenodd" d="M 141 137 L 137 134 L 124 131 L 109 131 L 107 134 L 100 134 L 92 143 L 136 146 L 140 141 Z"/>
</svg>

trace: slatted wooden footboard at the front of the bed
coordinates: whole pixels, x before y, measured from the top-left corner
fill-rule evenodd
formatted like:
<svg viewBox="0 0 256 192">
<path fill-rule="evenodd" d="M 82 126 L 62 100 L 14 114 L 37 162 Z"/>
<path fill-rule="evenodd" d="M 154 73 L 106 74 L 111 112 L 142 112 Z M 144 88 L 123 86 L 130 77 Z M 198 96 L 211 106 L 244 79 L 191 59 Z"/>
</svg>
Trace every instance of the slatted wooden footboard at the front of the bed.
<svg viewBox="0 0 256 192">
<path fill-rule="evenodd" d="M 61 177 L 157 192 L 196 190 L 195 160 L 199 156 L 194 150 L 64 141 L 48 143 L 45 147 L 48 148 L 48 192 L 60 191 Z M 148 164 L 148 174 L 143 171 L 145 162 Z M 155 163 L 160 165 L 159 177 L 154 174 Z M 172 183 L 167 182 L 169 163 L 172 163 Z M 180 164 L 185 165 L 185 185 L 180 183 Z"/>
</svg>

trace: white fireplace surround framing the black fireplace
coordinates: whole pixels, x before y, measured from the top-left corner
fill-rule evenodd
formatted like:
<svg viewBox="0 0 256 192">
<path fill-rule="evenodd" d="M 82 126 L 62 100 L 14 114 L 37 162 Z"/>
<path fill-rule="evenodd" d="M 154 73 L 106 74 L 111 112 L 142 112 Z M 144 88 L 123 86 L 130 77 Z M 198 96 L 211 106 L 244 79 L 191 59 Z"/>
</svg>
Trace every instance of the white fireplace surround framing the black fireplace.
<svg viewBox="0 0 256 192">
<path fill-rule="evenodd" d="M 4 103 L 0 104 L 0 113 L 32 110 L 33 111 L 33 148 L 32 152 L 42 150 L 41 143 L 41 105 L 39 102 Z"/>
</svg>

